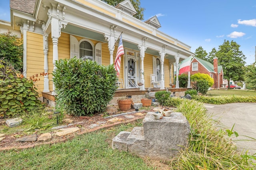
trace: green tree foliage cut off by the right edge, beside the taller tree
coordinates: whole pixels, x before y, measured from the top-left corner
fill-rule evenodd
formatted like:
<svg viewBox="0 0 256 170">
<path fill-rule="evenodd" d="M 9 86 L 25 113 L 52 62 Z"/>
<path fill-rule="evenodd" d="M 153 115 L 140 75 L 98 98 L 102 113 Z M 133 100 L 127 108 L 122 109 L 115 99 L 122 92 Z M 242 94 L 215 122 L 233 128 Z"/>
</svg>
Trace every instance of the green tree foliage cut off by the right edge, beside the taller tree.
<svg viewBox="0 0 256 170">
<path fill-rule="evenodd" d="M 246 84 L 250 84 L 251 89 L 256 90 L 256 63 L 244 67 Z"/>
</svg>

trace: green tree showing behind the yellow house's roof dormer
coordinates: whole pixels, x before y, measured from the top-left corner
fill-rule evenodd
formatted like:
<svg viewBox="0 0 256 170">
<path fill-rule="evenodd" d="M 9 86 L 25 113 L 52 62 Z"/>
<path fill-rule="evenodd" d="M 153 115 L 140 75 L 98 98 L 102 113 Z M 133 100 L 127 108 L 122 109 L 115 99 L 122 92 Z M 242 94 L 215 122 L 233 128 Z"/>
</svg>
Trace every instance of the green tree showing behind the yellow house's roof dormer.
<svg viewBox="0 0 256 170">
<path fill-rule="evenodd" d="M 124 0 L 102 0 L 103 2 L 106 2 L 107 4 L 111 6 L 116 6 L 120 2 Z M 145 8 L 140 7 L 140 0 L 130 0 L 132 5 L 134 6 L 135 10 L 138 12 L 136 15 L 134 15 L 135 18 L 139 20 L 144 20 L 144 10 Z"/>
</svg>

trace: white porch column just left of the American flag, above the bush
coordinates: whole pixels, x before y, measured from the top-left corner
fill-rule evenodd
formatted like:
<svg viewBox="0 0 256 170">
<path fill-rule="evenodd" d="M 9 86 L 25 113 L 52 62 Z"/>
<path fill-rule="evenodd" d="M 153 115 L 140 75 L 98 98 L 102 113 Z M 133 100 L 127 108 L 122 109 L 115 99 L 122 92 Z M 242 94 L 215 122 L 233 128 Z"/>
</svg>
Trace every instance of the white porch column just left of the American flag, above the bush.
<svg viewBox="0 0 256 170">
<path fill-rule="evenodd" d="M 105 33 L 104 37 L 108 41 L 108 50 L 110 54 L 110 64 L 113 64 L 113 54 L 115 50 L 115 34 L 116 34 L 116 25 L 110 27 L 110 34 Z"/>
</svg>

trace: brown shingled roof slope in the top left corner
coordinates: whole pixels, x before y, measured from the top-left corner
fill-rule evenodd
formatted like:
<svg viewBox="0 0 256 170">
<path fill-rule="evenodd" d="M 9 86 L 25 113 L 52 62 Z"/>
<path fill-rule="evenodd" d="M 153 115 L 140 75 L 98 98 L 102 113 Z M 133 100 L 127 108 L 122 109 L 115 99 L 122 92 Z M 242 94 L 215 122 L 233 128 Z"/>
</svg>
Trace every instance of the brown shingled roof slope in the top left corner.
<svg viewBox="0 0 256 170">
<path fill-rule="evenodd" d="M 34 13 L 36 0 L 10 0 L 10 8 L 28 14 Z"/>
</svg>

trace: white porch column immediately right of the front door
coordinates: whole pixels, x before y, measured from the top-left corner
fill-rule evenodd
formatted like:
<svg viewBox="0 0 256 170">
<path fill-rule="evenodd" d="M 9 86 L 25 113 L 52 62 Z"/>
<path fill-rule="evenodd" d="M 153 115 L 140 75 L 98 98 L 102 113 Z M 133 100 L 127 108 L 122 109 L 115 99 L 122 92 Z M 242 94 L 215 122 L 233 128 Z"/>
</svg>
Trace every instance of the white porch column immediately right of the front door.
<svg viewBox="0 0 256 170">
<path fill-rule="evenodd" d="M 145 90 L 145 80 L 144 80 L 144 57 L 145 57 L 145 51 L 147 49 L 146 45 L 146 40 L 148 38 L 144 37 L 142 38 L 142 45 L 138 45 L 138 48 L 140 50 L 140 78 L 141 78 L 141 83 L 143 84 L 140 86 L 140 90 Z"/>
</svg>

